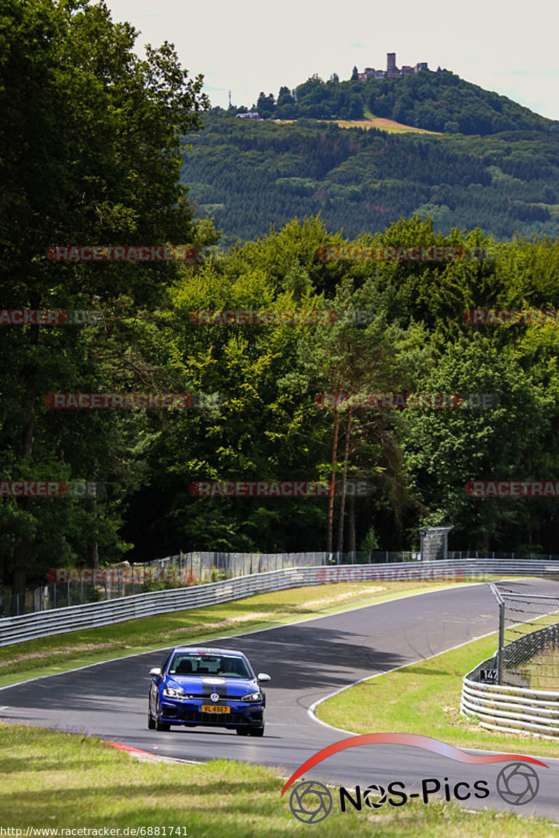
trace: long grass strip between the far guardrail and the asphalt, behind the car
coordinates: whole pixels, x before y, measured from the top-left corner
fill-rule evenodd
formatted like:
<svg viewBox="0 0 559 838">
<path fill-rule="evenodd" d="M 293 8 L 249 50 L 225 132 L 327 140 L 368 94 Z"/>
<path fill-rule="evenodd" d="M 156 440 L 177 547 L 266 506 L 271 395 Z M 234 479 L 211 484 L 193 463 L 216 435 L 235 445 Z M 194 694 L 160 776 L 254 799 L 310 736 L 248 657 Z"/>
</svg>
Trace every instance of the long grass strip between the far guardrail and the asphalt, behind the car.
<svg viewBox="0 0 559 838">
<path fill-rule="evenodd" d="M 190 608 L 82 629 L 0 647 L 0 686 L 124 655 L 164 649 L 195 640 L 200 643 L 337 613 L 411 593 L 457 587 L 445 582 L 339 582 L 287 588 L 206 608 Z"/>
</svg>

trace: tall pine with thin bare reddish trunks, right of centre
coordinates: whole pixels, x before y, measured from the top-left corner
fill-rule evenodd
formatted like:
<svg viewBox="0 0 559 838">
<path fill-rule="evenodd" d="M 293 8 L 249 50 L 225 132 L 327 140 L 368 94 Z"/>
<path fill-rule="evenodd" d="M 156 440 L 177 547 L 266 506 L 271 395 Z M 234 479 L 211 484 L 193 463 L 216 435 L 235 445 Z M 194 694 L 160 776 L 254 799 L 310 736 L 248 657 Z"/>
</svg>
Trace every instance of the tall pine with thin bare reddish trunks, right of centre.
<svg viewBox="0 0 559 838">
<path fill-rule="evenodd" d="M 338 550 L 342 551 L 349 476 L 377 477 L 380 461 L 392 461 L 389 451 L 396 446 L 387 411 L 364 407 L 360 399 L 397 390 L 410 363 L 409 344 L 417 344 L 422 335 L 415 327 L 402 330 L 398 323 L 387 322 L 382 294 L 372 279 L 355 289 L 350 277 L 344 277 L 329 307 L 339 312 L 339 320 L 317 329 L 308 344 L 302 344 L 302 351 L 313 387 L 326 394 L 323 410 L 332 417 L 329 463 L 323 464 L 323 472 L 328 473 L 331 485 L 341 477 L 335 495 L 339 497 Z M 356 312 L 364 313 L 367 322 L 353 323 L 350 315 Z M 356 401 L 352 401 L 354 396 Z M 355 541 L 353 534 L 350 541 Z M 332 551 L 333 544 L 331 491 L 326 550 Z"/>
</svg>

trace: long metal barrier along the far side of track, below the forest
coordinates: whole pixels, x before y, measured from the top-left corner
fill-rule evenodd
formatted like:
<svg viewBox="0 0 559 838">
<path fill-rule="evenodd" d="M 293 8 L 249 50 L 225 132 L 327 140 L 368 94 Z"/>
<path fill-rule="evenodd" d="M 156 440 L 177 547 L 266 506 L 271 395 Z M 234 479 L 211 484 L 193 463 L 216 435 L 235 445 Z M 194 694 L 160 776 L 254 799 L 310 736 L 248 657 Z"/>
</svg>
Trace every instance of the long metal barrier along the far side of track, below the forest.
<svg viewBox="0 0 559 838">
<path fill-rule="evenodd" d="M 464 577 L 479 578 L 486 574 L 545 576 L 559 575 L 559 562 L 510 559 L 468 559 L 466 561 L 391 562 L 387 565 L 346 565 L 298 567 L 257 573 L 248 577 L 226 579 L 207 585 L 173 588 L 168 591 L 140 593 L 102 603 L 53 608 L 0 619 L 0 646 L 19 643 L 50 634 L 64 634 L 76 629 L 91 629 L 111 623 L 122 623 L 172 611 L 184 611 L 205 605 L 226 603 L 255 593 L 280 591 L 288 587 L 319 585 L 328 582 L 388 582 L 433 580 L 452 582 Z"/>
</svg>

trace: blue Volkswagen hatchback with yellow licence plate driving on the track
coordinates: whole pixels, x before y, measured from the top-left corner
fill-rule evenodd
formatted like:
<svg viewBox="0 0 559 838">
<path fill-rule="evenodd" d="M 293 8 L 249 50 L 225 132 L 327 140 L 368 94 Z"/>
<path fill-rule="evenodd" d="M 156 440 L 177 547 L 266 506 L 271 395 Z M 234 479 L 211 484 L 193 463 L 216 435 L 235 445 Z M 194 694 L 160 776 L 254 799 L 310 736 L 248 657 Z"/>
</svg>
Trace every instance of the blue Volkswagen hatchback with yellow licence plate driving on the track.
<svg viewBox="0 0 559 838">
<path fill-rule="evenodd" d="M 148 727 L 225 727 L 240 736 L 264 736 L 266 694 L 242 652 L 179 646 L 161 669 L 150 670 Z"/>
</svg>

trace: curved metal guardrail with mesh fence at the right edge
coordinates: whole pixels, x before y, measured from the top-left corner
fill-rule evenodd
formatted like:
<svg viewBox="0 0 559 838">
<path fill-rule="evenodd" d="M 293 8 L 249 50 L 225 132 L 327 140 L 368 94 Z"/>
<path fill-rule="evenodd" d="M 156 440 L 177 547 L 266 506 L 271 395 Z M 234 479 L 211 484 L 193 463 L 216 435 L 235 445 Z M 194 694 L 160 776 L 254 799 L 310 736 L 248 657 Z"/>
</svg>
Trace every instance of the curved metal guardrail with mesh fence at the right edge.
<svg viewBox="0 0 559 838">
<path fill-rule="evenodd" d="M 559 623 L 525 634 L 503 648 L 504 659 L 529 660 L 550 641 L 556 644 L 558 634 Z M 559 737 L 559 691 L 480 683 L 479 670 L 497 669 L 498 659 L 497 650 L 464 676 L 461 714 L 475 716 L 479 725 L 489 730 L 533 732 L 546 739 Z"/>
</svg>

